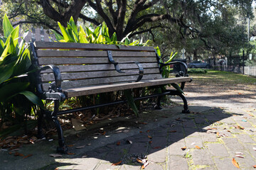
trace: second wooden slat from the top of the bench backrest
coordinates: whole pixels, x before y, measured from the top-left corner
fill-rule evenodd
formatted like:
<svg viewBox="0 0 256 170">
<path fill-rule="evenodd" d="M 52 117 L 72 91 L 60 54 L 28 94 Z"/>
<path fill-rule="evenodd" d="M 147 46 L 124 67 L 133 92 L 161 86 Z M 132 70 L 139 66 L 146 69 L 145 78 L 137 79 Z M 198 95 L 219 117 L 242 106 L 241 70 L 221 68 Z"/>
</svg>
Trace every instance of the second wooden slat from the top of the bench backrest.
<svg viewBox="0 0 256 170">
<path fill-rule="evenodd" d="M 107 51 L 38 50 L 38 57 L 107 57 Z M 156 57 L 155 52 L 113 51 L 113 57 Z"/>
</svg>

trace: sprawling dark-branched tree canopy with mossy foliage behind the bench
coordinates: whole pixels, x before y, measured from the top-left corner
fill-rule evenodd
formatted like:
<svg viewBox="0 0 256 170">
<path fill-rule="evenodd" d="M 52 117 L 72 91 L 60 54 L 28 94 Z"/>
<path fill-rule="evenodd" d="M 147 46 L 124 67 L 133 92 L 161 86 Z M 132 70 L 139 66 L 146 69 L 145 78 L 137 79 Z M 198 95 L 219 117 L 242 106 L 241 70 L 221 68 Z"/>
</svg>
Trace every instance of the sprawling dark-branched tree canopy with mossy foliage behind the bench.
<svg viewBox="0 0 256 170">
<path fill-rule="evenodd" d="M 245 38 L 242 22 L 252 14 L 252 0 L 3 0 L 14 25 L 31 23 L 57 30 L 73 16 L 95 26 L 103 21 L 110 35 L 122 40 L 139 35 L 162 49 L 186 46 L 188 52 L 204 49 L 217 53 L 236 49 Z M 242 20 L 240 19 L 242 18 Z M 240 21 L 239 21 L 240 19 Z M 58 30 L 57 30 L 58 31 Z"/>
</svg>

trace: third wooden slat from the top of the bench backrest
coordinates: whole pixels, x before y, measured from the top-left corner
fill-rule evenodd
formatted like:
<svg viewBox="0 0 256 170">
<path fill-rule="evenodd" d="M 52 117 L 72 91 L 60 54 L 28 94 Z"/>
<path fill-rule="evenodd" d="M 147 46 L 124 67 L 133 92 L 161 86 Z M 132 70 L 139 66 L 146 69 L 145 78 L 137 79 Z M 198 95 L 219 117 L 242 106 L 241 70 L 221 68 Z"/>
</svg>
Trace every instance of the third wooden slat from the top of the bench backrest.
<svg viewBox="0 0 256 170">
<path fill-rule="evenodd" d="M 156 57 L 115 57 L 115 62 L 156 62 Z M 47 64 L 108 64 L 110 63 L 107 57 L 40 57 L 38 58 L 40 65 Z"/>
</svg>

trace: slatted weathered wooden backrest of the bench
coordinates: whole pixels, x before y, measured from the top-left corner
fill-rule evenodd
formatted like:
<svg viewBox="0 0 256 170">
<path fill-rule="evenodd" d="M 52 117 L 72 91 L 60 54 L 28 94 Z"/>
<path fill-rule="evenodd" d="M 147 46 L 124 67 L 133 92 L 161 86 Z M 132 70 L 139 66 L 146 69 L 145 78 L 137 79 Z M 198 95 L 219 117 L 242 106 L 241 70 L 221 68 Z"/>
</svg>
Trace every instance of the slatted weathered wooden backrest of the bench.
<svg viewBox="0 0 256 170">
<path fill-rule="evenodd" d="M 154 47 L 71 42 L 35 42 L 34 45 L 39 66 L 55 64 L 59 67 L 62 89 L 136 81 L 139 74 L 137 64 L 119 64 L 120 69 L 136 74 L 118 73 L 107 57 L 107 50 L 112 51 L 115 62 L 140 62 L 144 68 L 142 80 L 162 79 Z M 44 91 L 48 90 L 50 81 L 54 81 L 50 69 L 41 72 Z"/>
</svg>

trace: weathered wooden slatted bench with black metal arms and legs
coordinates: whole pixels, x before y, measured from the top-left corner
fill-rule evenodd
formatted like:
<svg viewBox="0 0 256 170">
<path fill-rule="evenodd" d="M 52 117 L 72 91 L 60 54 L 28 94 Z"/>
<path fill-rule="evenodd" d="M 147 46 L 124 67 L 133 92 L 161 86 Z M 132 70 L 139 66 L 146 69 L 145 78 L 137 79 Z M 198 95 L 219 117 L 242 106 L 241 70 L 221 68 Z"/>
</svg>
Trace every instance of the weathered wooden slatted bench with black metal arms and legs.
<svg viewBox="0 0 256 170">
<path fill-rule="evenodd" d="M 167 64 L 159 62 L 154 47 L 31 42 L 31 50 L 33 66 L 38 68 L 38 72 L 33 76 L 36 79 L 38 95 L 44 100 L 54 101 L 54 110 L 42 110 L 38 118 L 38 135 L 42 134 L 42 118 L 53 120 L 58 131 L 57 152 L 66 152 L 58 115 L 106 106 L 99 104 L 59 111 L 60 101 L 76 96 L 148 86 L 159 87 L 171 83 L 181 83 L 183 89 L 185 82 L 191 81 L 187 75 L 187 66 L 183 62 L 169 63 L 181 64 L 184 70 L 177 77 L 163 79 L 161 69 Z M 140 96 L 134 100 L 159 97 L 156 108 L 160 108 L 160 97 L 164 95 L 181 96 L 184 103 L 182 112 L 189 113 L 186 98 L 176 89 Z M 114 101 L 109 105 L 125 102 Z"/>
</svg>

